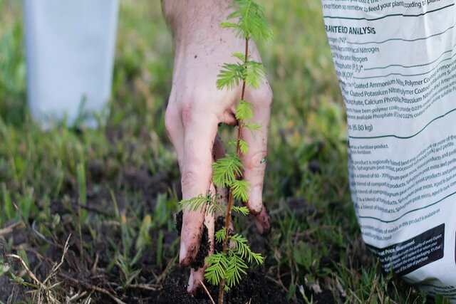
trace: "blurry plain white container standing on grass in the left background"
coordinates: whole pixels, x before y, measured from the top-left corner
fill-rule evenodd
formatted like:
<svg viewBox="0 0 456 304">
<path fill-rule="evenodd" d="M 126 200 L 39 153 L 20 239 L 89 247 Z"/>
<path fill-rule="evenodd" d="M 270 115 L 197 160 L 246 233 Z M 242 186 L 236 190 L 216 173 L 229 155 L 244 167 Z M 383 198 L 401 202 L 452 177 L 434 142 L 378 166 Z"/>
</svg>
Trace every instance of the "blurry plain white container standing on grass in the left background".
<svg viewBox="0 0 456 304">
<path fill-rule="evenodd" d="M 24 0 L 28 106 L 43 126 L 96 127 L 113 78 L 119 0 Z M 81 112 L 81 105 L 83 105 Z"/>
</svg>

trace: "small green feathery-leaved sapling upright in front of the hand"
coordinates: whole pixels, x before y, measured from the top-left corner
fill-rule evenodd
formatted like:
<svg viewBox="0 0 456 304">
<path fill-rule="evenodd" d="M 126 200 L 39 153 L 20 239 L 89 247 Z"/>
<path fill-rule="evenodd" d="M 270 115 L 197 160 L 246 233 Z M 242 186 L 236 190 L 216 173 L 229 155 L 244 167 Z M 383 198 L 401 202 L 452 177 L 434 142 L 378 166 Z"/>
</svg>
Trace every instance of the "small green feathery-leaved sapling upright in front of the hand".
<svg viewBox="0 0 456 304">
<path fill-rule="evenodd" d="M 217 194 L 209 191 L 207 194 L 199 194 L 192 199 L 180 201 L 182 209 L 189 211 L 201 210 L 207 214 L 215 214 L 218 211 L 225 214 L 224 226 L 214 234 L 214 239 L 222 243 L 222 251 L 206 258 L 207 268 L 204 278 L 212 285 L 219 285 L 218 302 L 223 303 L 223 293 L 234 285 L 237 285 L 249 268 L 247 263 L 262 264 L 264 261 L 260 253 L 254 253 L 247 239 L 240 234 L 230 234 L 232 211 L 247 216 L 247 206 L 236 206 L 234 201 L 247 203 L 249 199 L 250 184 L 242 179 L 244 165 L 242 156 L 249 152 L 248 143 L 242 139 L 244 128 L 251 132 L 259 130 L 260 125 L 250 123 L 253 117 L 252 103 L 245 100 L 246 88 L 258 89 L 266 76 L 266 68 L 263 63 L 253 61 L 249 55 L 249 41 L 270 39 L 273 34 L 264 18 L 264 9 L 251 0 L 234 0 L 231 14 L 227 17 L 230 21 L 222 22 L 222 28 L 231 28 L 239 38 L 244 39 L 244 53 L 233 53 L 237 63 L 224 63 L 222 70 L 217 75 L 217 89 L 233 90 L 242 85 L 242 93 L 236 106 L 235 117 L 238 123 L 237 140 L 230 142 L 236 147 L 236 152 L 227 153 L 225 157 L 212 163 L 212 182 L 218 188 L 229 189 L 228 205 L 223 206 L 218 202 Z M 233 22 L 232 22 L 233 21 Z M 229 246 L 233 242 L 234 246 Z"/>
</svg>

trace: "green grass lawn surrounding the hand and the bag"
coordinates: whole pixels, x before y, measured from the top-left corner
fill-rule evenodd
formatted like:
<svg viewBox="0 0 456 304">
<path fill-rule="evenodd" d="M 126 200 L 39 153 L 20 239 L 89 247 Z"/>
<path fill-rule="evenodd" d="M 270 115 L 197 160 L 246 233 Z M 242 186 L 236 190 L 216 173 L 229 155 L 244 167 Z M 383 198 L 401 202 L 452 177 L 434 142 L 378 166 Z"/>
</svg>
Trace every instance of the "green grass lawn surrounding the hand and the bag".
<svg viewBox="0 0 456 304">
<path fill-rule="evenodd" d="M 326 303 L 328 293 L 337 303 L 429 303 L 419 290 L 381 273 L 361 241 L 348 189 L 344 106 L 320 2 L 259 2 L 276 31 L 274 41 L 259 46 L 274 90 L 264 184 L 274 226 L 266 241 L 269 278 L 300 303 Z M 94 249 L 77 232 L 107 239 L 109 263 L 97 267 L 119 274 L 117 294 L 126 297 L 140 277 L 148 288 L 160 288 L 161 273 L 177 261 L 178 240 L 164 240 L 174 231 L 178 186 L 168 183 L 149 197 L 141 179 L 123 184 L 143 172 L 179 179 L 164 127 L 172 42 L 160 1 L 122 1 L 110 117 L 98 130 L 56 125 L 43 131 L 31 121 L 21 19 L 21 1 L 0 0 L 0 227 L 25 221 L 23 229 L 42 254 L 54 236 L 76 231 L 82 242 L 73 241 L 70 249 L 86 252 L 92 261 Z M 228 132 L 224 127 L 224 136 Z M 102 179 L 93 174 L 96 168 Z M 100 206 L 90 203 L 93 196 Z M 56 201 L 65 212 L 55 210 Z M 119 231 L 121 241 L 102 234 L 103 226 Z M 244 222 L 235 226 L 252 228 Z M 0 235 L 4 249 L 29 265 L 29 246 L 12 235 Z M 157 266 L 155 277 L 140 267 L 145 258 Z M 21 280 L 30 278 L 21 270 L 14 263 L 0 266 L 0 279 L 25 284 Z M 58 286 L 49 292 L 71 296 Z"/>
</svg>

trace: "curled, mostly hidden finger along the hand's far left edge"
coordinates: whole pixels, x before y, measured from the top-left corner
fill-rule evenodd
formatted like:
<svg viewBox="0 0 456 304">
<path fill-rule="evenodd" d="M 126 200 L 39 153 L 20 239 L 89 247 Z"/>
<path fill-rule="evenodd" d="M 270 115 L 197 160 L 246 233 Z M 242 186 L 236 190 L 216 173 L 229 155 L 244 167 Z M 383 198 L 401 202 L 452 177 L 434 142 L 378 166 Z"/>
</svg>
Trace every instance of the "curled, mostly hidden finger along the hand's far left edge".
<svg viewBox="0 0 456 304">
<path fill-rule="evenodd" d="M 177 110 L 171 94 L 170 101 L 165 113 L 165 128 L 172 145 L 177 154 L 177 163 L 181 169 L 182 159 L 184 157 L 184 127 L 182 126 L 182 116 Z"/>
</svg>

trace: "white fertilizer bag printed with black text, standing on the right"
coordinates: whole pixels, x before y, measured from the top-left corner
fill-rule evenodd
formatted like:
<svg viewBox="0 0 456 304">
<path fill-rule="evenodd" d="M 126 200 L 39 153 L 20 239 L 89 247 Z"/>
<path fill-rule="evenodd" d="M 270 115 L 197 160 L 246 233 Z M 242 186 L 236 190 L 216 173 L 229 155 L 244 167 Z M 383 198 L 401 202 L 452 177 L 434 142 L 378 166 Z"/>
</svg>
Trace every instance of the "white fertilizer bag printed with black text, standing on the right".
<svg viewBox="0 0 456 304">
<path fill-rule="evenodd" d="M 455 0 L 323 0 L 363 240 L 456 303 Z"/>
</svg>

